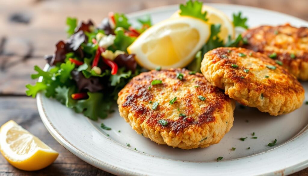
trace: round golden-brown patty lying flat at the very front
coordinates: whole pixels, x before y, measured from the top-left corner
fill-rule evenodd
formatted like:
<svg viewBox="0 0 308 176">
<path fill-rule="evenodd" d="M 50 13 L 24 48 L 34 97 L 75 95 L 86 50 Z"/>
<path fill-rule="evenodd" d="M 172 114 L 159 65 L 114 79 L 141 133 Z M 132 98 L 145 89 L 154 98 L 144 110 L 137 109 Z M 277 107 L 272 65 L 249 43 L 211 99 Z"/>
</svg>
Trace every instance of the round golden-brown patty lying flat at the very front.
<svg viewBox="0 0 308 176">
<path fill-rule="evenodd" d="M 189 73 L 152 70 L 134 77 L 119 92 L 120 115 L 158 144 L 181 149 L 217 144 L 233 125 L 235 103 L 202 74 Z"/>
</svg>

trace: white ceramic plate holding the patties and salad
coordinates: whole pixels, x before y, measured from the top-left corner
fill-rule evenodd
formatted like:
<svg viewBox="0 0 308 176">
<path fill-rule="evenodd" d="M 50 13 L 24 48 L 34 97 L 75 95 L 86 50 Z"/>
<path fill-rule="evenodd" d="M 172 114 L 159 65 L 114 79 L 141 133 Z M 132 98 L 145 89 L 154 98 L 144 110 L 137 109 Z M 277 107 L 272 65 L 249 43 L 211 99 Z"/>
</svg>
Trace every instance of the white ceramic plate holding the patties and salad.
<svg viewBox="0 0 308 176">
<path fill-rule="evenodd" d="M 249 19 L 249 27 L 284 23 L 308 26 L 306 21 L 269 10 L 208 5 L 222 10 L 230 18 L 233 12 L 242 11 Z M 161 7 L 129 17 L 134 21 L 150 14 L 157 23 L 177 9 L 178 6 Z M 308 83 L 303 82 L 303 85 L 308 92 Z M 91 121 L 41 94 L 37 96 L 37 104 L 43 123 L 61 145 L 85 162 L 116 175 L 286 175 L 308 167 L 308 105 L 305 104 L 279 117 L 237 105 L 233 128 L 219 144 L 191 150 L 157 145 L 138 135 L 120 117 L 116 106 L 115 113 L 103 121 L 112 128 L 106 131 L 100 128 L 102 121 Z M 257 139 L 251 138 L 253 132 Z M 241 137 L 248 138 L 241 141 Z M 277 139 L 277 145 L 267 146 L 274 139 Z M 232 147 L 236 150 L 231 150 Z M 224 158 L 217 161 L 219 156 Z"/>
</svg>

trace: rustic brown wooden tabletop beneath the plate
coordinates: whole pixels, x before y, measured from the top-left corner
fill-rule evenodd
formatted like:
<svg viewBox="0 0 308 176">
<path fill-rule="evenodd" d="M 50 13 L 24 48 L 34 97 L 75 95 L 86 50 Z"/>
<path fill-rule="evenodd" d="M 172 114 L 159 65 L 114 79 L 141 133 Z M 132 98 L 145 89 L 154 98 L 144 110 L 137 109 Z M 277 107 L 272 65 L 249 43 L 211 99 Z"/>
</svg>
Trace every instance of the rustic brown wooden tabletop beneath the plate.
<svg viewBox="0 0 308 176">
<path fill-rule="evenodd" d="M 35 99 L 25 96 L 25 84 L 35 82 L 30 79 L 34 65 L 43 67 L 43 55 L 53 53 L 55 43 L 59 39 L 65 39 L 67 16 L 81 20 L 91 18 L 99 23 L 109 11 L 130 13 L 182 2 L 184 0 L 1 0 L 0 125 L 14 120 L 57 150 L 60 155 L 51 166 L 35 172 L 18 170 L 1 156 L 0 175 L 112 175 L 83 162 L 55 141 L 39 117 Z M 307 0 L 206 2 L 256 6 L 308 20 Z M 308 176 L 308 169 L 292 175 Z"/>
</svg>

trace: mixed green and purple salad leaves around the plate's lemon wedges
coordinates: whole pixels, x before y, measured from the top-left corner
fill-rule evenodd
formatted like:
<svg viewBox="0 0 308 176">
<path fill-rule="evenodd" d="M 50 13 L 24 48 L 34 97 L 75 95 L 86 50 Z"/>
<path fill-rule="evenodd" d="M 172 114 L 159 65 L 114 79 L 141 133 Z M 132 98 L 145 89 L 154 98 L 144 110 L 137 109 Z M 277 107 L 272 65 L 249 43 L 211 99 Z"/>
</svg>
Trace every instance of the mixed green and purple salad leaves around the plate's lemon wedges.
<svg viewBox="0 0 308 176">
<path fill-rule="evenodd" d="M 202 2 L 190 0 L 181 4 L 180 10 L 180 15 L 207 20 Z M 247 28 L 246 21 L 241 12 L 233 14 L 234 26 Z M 109 13 L 96 27 L 91 20 L 78 23 L 76 18 L 67 18 L 68 39 L 60 40 L 55 45 L 55 54 L 45 57 L 51 66 L 48 71 L 34 66 L 37 73 L 31 78 L 42 79 L 34 85 L 27 84 L 26 95 L 35 97 L 43 92 L 92 120 L 106 118 L 113 112 L 111 105 L 118 92 L 143 69 L 136 63 L 135 55 L 127 52 L 127 47 L 152 25 L 149 16 L 138 22 L 141 27 L 132 27 L 126 15 L 119 13 Z M 220 24 L 211 25 L 209 40 L 188 65 L 189 70 L 200 72 L 202 56 L 207 51 L 236 47 L 241 42 L 239 35 L 235 40 L 229 36 L 229 41 L 224 43 L 218 37 L 220 28 Z"/>
</svg>

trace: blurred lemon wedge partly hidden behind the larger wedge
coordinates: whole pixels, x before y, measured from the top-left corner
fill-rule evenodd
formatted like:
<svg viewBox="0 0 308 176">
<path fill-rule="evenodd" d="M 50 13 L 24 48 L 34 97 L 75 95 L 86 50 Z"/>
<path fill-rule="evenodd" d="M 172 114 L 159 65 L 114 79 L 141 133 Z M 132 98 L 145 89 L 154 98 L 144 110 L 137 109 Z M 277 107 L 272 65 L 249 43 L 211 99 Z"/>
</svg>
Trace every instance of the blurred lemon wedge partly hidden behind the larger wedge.
<svg viewBox="0 0 308 176">
<path fill-rule="evenodd" d="M 211 6 L 202 6 L 202 12 L 207 12 L 206 17 L 208 19 L 208 23 L 210 24 L 221 24 L 220 33 L 218 34 L 219 38 L 223 39 L 224 42 L 228 41 L 229 35 L 231 36 L 231 39 L 234 39 L 235 36 L 235 30 L 233 23 L 231 20 L 227 17 L 227 15 Z M 178 18 L 181 15 L 179 14 L 180 10 L 176 11 L 171 18 Z"/>
</svg>

